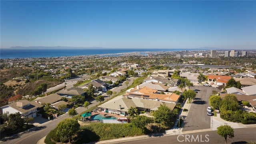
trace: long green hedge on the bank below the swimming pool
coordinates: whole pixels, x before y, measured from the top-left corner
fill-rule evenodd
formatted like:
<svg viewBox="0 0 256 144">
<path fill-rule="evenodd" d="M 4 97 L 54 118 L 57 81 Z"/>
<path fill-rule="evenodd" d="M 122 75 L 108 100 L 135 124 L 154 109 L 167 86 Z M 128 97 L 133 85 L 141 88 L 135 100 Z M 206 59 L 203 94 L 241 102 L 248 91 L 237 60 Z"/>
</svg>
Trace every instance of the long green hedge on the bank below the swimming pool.
<svg viewBox="0 0 256 144">
<path fill-rule="evenodd" d="M 77 144 L 143 134 L 140 128 L 136 128 L 132 124 L 94 123 L 80 126 L 80 129 L 77 134 Z"/>
</svg>

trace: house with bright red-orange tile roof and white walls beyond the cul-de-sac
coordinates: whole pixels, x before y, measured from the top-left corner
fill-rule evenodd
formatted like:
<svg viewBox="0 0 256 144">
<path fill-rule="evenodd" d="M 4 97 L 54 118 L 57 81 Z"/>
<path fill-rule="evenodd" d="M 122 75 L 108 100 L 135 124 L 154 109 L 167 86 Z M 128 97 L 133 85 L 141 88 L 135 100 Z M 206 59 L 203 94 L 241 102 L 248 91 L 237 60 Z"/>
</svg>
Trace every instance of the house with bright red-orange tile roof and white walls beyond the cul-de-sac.
<svg viewBox="0 0 256 144">
<path fill-rule="evenodd" d="M 215 85 L 226 85 L 231 76 L 208 75 L 208 83 Z"/>
</svg>

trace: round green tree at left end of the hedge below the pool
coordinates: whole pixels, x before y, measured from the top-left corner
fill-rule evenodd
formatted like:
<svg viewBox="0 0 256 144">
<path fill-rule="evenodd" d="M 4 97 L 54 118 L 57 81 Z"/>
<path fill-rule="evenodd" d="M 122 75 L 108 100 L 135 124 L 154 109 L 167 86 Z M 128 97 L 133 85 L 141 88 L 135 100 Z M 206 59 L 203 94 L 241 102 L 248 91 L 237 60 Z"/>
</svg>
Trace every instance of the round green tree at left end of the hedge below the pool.
<svg viewBox="0 0 256 144">
<path fill-rule="evenodd" d="M 78 124 L 77 120 L 72 118 L 66 118 L 58 123 L 57 125 L 57 132 L 56 134 L 60 136 L 60 141 L 63 141 L 65 137 L 68 137 L 68 142 L 71 142 L 72 136 L 76 134 L 79 130 L 80 125 Z"/>
</svg>

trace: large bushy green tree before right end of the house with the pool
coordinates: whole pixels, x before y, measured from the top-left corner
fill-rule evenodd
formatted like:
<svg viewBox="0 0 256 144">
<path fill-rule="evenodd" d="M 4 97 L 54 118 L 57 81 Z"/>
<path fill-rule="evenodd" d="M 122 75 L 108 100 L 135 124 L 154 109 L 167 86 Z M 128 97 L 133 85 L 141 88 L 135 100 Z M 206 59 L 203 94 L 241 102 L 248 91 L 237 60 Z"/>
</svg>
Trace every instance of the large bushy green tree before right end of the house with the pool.
<svg viewBox="0 0 256 144">
<path fill-rule="evenodd" d="M 173 116 L 172 110 L 165 105 L 160 105 L 158 110 L 152 114 L 155 117 L 156 123 L 163 124 L 164 126 L 170 126 L 170 120 Z"/>
</svg>

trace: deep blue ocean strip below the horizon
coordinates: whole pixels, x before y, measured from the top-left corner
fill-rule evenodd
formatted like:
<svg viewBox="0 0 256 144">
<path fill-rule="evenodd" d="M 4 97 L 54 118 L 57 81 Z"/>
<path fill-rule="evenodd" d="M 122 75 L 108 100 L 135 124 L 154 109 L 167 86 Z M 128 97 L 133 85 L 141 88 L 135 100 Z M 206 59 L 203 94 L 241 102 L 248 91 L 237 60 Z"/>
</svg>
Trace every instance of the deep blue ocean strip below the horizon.
<svg viewBox="0 0 256 144">
<path fill-rule="evenodd" d="M 181 51 L 185 49 L 0 49 L 0 58 L 43 58 L 58 56 L 82 56 L 95 54 L 116 54 L 124 52 Z M 192 49 L 190 49 L 192 50 Z"/>
</svg>

